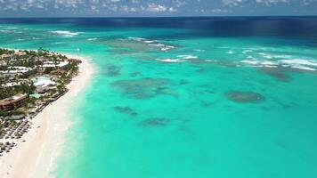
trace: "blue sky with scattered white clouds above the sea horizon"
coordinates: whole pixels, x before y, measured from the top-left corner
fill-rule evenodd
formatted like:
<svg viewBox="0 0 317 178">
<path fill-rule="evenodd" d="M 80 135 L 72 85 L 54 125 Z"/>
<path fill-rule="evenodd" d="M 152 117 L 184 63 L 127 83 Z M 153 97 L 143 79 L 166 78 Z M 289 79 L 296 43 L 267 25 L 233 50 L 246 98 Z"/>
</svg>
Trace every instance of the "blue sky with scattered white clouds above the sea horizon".
<svg viewBox="0 0 317 178">
<path fill-rule="evenodd" d="M 266 15 L 317 15 L 317 0 L 0 0 L 0 18 Z"/>
</svg>

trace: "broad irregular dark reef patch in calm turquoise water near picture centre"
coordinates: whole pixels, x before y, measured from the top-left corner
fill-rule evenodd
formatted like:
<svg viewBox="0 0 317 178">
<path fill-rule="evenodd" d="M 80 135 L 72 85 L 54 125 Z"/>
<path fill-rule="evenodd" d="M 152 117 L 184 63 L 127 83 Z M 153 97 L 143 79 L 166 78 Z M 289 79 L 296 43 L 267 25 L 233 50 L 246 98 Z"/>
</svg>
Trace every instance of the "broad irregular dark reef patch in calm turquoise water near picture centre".
<svg viewBox="0 0 317 178">
<path fill-rule="evenodd" d="M 164 87 L 170 81 L 165 78 L 142 78 L 120 80 L 112 83 L 112 86 L 120 88 L 123 93 L 135 99 L 149 99 L 158 94 L 170 94 Z"/>
</svg>

